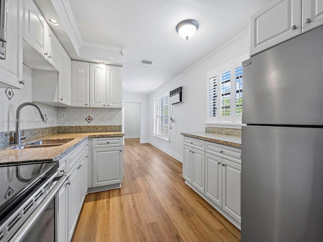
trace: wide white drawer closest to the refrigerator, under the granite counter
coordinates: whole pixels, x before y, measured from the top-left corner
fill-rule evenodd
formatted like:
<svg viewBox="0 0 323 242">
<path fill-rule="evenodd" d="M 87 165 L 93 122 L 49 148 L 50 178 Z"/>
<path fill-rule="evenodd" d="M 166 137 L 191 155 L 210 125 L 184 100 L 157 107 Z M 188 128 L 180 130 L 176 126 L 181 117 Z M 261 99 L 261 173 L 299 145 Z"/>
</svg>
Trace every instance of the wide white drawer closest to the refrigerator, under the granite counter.
<svg viewBox="0 0 323 242">
<path fill-rule="evenodd" d="M 238 164 L 241 164 L 241 150 L 230 146 L 220 145 L 212 142 L 205 142 L 205 152 L 223 157 Z"/>
</svg>

